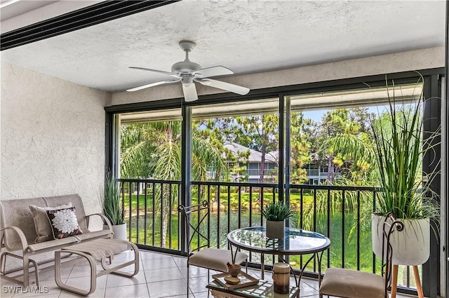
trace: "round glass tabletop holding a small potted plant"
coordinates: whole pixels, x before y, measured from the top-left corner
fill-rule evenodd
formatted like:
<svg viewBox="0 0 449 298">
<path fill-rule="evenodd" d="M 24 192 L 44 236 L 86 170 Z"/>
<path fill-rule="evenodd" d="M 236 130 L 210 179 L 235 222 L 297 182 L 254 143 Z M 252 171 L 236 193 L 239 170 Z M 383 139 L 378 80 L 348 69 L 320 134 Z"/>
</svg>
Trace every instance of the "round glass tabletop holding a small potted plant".
<svg viewBox="0 0 449 298">
<path fill-rule="evenodd" d="M 268 238 L 264 226 L 251 226 L 231 231 L 227 235 L 237 248 L 275 255 L 304 255 L 326 250 L 330 240 L 321 233 L 286 228 L 284 238 Z"/>
</svg>

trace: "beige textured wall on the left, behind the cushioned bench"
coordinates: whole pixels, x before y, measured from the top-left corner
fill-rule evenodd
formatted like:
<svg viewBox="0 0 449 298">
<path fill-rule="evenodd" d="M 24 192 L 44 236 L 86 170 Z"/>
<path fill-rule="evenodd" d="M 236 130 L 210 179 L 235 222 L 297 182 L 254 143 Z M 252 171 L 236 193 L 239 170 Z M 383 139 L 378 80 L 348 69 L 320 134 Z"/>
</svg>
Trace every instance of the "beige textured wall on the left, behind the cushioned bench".
<svg viewBox="0 0 449 298">
<path fill-rule="evenodd" d="M 99 212 L 108 93 L 1 64 L 1 200 L 78 193 Z"/>
</svg>

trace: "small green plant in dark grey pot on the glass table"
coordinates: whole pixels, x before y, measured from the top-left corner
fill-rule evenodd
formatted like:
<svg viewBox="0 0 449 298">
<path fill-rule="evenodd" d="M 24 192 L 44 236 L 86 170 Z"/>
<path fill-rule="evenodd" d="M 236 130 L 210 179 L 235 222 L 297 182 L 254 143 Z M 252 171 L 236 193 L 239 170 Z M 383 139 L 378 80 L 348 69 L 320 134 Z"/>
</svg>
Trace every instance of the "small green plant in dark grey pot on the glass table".
<svg viewBox="0 0 449 298">
<path fill-rule="evenodd" d="M 286 229 L 286 219 L 292 216 L 292 212 L 283 203 L 268 203 L 262 208 L 262 215 L 267 219 L 267 237 L 283 238 Z"/>
</svg>

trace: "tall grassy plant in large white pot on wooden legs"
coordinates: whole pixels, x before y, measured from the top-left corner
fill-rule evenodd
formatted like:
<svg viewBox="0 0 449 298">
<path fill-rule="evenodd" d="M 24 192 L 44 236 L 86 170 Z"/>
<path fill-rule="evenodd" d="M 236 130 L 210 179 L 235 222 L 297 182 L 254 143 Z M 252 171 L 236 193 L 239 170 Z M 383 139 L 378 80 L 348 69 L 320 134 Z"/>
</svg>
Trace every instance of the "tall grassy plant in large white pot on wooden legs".
<svg viewBox="0 0 449 298">
<path fill-rule="evenodd" d="M 377 178 L 382 189 L 377 193 L 372 219 L 373 251 L 382 257 L 383 228 L 380 223 L 388 212 L 394 212 L 405 229 L 391 239 L 392 263 L 417 266 L 429 259 L 430 221 L 439 215 L 434 204 L 436 194 L 430 187 L 437 173 L 425 173 L 422 169 L 424 154 L 430 154 L 429 151 L 438 145 L 438 133 L 423 132 L 425 100 L 422 91 L 414 95 L 413 101 L 405 102 L 403 97 L 394 95 L 398 93 L 394 84 L 392 88 L 391 91 L 387 84 L 387 112 L 371 125 Z"/>
</svg>

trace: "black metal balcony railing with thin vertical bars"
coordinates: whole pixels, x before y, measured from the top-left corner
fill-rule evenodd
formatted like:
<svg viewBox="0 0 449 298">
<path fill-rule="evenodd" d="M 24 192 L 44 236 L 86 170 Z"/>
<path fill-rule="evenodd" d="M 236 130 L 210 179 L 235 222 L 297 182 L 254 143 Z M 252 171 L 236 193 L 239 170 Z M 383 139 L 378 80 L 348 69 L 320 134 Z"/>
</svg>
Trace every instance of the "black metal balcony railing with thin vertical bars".
<svg viewBox="0 0 449 298">
<path fill-rule="evenodd" d="M 129 240 L 148 249 L 180 254 L 180 182 L 120 179 L 119 184 Z M 370 229 L 377 189 L 290 184 L 288 191 L 294 212 L 289 226 L 317 231 L 331 240 L 330 249 L 323 255 L 323 267 L 380 272 L 380 260 L 371 247 Z M 192 182 L 191 187 L 192 203 L 206 200 L 210 205 L 208 233 L 210 245 L 216 248 L 228 247 L 229 231 L 263 226 L 260 208 L 278 199 L 278 184 Z M 250 264 L 260 264 L 259 254 L 248 254 Z M 303 259 L 308 256 L 290 257 L 289 262 L 299 269 Z M 265 264 L 274 261 L 274 256 L 265 256 Z M 317 276 L 316 263 L 311 262 L 306 270 L 304 275 Z M 400 270 L 399 277 L 405 287 L 412 286 L 408 267 Z"/>
</svg>

